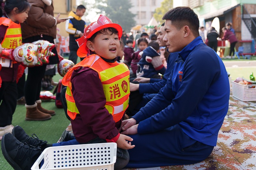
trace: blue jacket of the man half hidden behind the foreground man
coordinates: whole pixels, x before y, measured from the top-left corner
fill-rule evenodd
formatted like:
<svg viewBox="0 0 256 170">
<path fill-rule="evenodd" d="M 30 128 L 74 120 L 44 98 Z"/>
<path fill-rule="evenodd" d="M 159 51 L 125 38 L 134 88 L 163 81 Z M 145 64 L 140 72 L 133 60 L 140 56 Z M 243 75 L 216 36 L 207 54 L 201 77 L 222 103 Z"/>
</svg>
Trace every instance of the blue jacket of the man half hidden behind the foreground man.
<svg viewBox="0 0 256 170">
<path fill-rule="evenodd" d="M 139 92 L 143 93 L 158 93 L 161 88 L 166 85 L 167 79 L 170 77 L 175 60 L 179 52 L 171 53 L 167 59 L 167 68 L 162 79 L 150 78 L 149 83 L 140 83 Z"/>
</svg>

